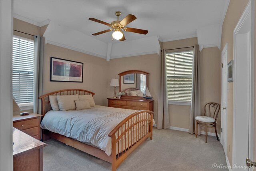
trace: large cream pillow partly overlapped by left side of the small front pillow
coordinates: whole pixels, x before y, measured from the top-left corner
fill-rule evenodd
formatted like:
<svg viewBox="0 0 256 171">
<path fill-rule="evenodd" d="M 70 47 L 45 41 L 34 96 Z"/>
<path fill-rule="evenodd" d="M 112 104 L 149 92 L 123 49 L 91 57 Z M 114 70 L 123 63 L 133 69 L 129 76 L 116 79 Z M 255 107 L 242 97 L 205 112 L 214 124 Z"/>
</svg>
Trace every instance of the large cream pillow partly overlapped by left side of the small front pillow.
<svg viewBox="0 0 256 171">
<path fill-rule="evenodd" d="M 62 111 L 76 109 L 75 100 L 78 99 L 78 95 L 57 95 L 59 108 Z"/>
</svg>

